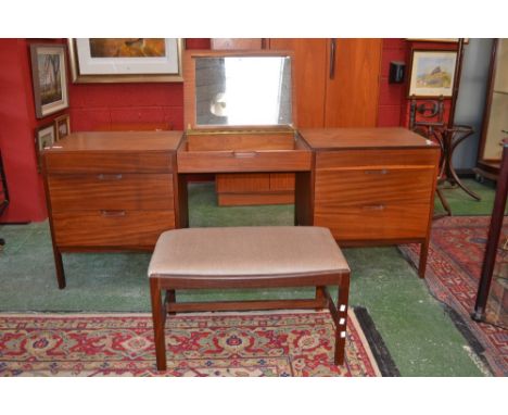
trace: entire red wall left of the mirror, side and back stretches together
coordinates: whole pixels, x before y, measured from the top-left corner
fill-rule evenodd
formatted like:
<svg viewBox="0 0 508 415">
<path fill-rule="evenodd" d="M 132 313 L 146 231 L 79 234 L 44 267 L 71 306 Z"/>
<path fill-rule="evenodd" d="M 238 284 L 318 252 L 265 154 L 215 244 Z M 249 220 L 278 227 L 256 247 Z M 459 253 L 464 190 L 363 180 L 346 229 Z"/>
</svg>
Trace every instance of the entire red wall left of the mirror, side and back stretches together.
<svg viewBox="0 0 508 415">
<path fill-rule="evenodd" d="M 35 115 L 29 45 L 65 39 L 0 39 L 0 149 L 10 204 L 0 223 L 43 221 L 42 177 L 37 172 L 35 130 L 68 112 L 72 130 L 112 123 L 168 123 L 183 127 L 182 84 L 68 84 L 69 108 L 42 120 Z M 209 39 L 187 39 L 188 49 L 209 49 Z M 68 65 L 67 65 L 68 67 Z M 67 73 L 71 79 L 69 72 Z"/>
</svg>

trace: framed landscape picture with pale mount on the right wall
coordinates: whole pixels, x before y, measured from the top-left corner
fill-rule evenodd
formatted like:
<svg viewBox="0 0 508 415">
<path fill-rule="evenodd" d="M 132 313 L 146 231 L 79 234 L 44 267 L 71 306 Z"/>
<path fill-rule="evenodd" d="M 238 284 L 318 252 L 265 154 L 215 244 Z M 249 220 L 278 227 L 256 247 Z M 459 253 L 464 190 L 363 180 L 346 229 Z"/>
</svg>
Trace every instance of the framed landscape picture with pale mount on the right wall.
<svg viewBox="0 0 508 415">
<path fill-rule="evenodd" d="M 452 97 L 457 51 L 412 50 L 409 97 Z"/>
</svg>

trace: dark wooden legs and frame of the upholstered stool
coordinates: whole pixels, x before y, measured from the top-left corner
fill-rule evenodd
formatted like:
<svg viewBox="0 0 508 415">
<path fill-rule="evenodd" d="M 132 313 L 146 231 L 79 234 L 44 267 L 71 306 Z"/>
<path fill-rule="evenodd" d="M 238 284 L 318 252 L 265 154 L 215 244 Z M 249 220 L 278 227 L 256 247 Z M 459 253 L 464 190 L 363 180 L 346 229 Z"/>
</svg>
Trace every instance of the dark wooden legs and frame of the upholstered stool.
<svg viewBox="0 0 508 415">
<path fill-rule="evenodd" d="M 339 286 L 338 306 L 326 286 Z M 261 301 L 208 301 L 182 302 L 176 301 L 175 290 L 208 289 L 208 288 L 283 288 L 283 287 L 316 287 L 314 299 L 295 300 L 261 300 Z M 157 370 L 166 370 L 165 323 L 167 314 L 176 312 L 216 312 L 247 310 L 292 310 L 292 309 L 325 309 L 330 310 L 335 325 L 334 363 L 344 363 L 345 336 L 347 326 L 347 303 L 350 297 L 350 271 L 320 272 L 313 274 L 274 274 L 274 275 L 205 275 L 205 276 L 172 276 L 150 275 L 150 292 L 152 300 L 152 319 L 155 335 L 155 354 Z M 166 293 L 163 302 L 163 293 Z"/>
</svg>

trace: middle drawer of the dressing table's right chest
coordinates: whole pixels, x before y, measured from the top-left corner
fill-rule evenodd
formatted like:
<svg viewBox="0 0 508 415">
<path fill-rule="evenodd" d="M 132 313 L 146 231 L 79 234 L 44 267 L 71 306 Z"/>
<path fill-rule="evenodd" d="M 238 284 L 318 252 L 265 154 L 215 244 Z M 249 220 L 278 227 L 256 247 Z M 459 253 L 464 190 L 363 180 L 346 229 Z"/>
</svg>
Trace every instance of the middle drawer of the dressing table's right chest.
<svg viewBox="0 0 508 415">
<path fill-rule="evenodd" d="M 344 205 L 429 203 L 433 168 L 360 168 L 316 172 L 315 203 L 322 209 Z"/>
</svg>

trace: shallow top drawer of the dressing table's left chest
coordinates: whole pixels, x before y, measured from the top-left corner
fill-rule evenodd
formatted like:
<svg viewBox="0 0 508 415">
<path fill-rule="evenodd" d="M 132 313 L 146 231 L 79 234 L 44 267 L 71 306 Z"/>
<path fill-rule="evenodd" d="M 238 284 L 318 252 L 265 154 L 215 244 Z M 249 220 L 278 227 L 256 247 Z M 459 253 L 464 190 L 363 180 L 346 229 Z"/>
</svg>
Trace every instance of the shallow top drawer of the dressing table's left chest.
<svg viewBox="0 0 508 415">
<path fill-rule="evenodd" d="M 173 153 L 162 151 L 45 152 L 46 172 L 52 173 L 173 173 Z"/>
</svg>

